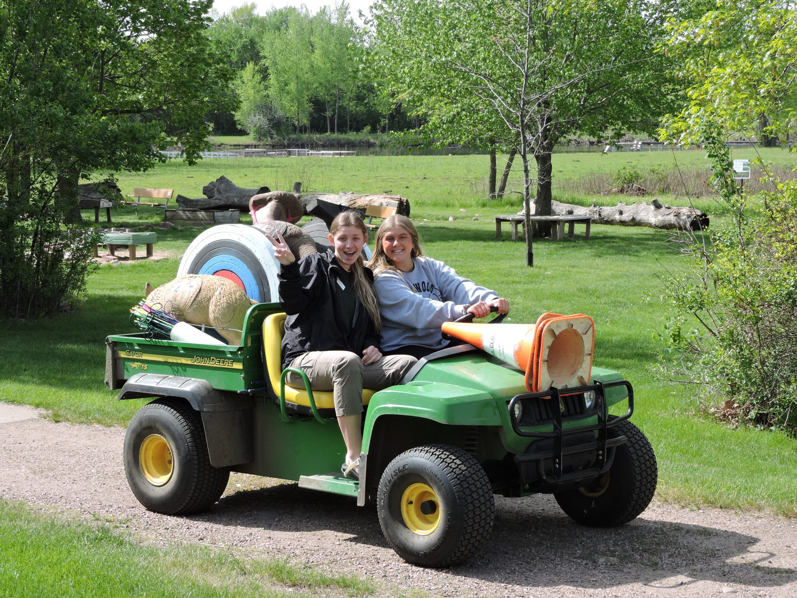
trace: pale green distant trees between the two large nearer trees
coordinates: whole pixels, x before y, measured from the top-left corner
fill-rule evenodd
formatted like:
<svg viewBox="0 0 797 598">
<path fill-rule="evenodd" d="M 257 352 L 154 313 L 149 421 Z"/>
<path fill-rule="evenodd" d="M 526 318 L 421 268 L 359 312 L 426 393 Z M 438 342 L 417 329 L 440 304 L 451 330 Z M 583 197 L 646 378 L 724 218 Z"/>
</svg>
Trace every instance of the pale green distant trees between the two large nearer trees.
<svg viewBox="0 0 797 598">
<path fill-rule="evenodd" d="M 254 10 L 246 4 L 219 16 L 209 33 L 238 71 L 238 127 L 267 140 L 291 132 L 387 132 L 411 125 L 399 105 L 385 101 L 367 65 L 364 32 L 346 3 L 316 14 L 304 7 L 262 15 Z"/>
</svg>

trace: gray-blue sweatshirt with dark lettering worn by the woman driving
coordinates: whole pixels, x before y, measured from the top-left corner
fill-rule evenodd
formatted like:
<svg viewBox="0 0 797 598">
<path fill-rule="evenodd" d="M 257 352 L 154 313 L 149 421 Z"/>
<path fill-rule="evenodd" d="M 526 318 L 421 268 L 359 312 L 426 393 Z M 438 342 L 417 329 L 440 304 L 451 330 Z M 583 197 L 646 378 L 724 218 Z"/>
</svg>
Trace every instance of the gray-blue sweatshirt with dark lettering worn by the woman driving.
<svg viewBox="0 0 797 598">
<path fill-rule="evenodd" d="M 412 272 L 383 270 L 374 289 L 382 316 L 382 348 L 407 344 L 444 348 L 440 327 L 462 317 L 470 305 L 497 299 L 495 291 L 457 276 L 453 268 L 431 258 L 413 258 Z"/>
</svg>

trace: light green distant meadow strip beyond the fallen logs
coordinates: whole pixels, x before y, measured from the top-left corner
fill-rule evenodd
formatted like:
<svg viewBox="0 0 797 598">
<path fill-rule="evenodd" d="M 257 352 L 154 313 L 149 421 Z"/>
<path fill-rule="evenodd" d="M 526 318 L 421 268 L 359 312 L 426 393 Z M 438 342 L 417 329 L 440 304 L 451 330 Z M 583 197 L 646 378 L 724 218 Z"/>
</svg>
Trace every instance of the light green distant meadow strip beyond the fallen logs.
<svg viewBox="0 0 797 598">
<path fill-rule="evenodd" d="M 794 156 L 781 148 L 739 148 L 734 158 L 755 158 L 757 153 L 776 164 L 793 164 Z M 504 159 L 499 156 L 499 170 Z M 598 152 L 560 153 L 553 155 L 553 191 L 555 199 L 568 203 L 614 205 L 617 196 L 580 196 L 561 187 L 565 181 L 591 173 L 613 174 L 633 164 L 640 171 L 651 167 L 672 168 L 705 165 L 702 151 L 640 151 L 603 155 Z M 305 191 L 338 193 L 380 193 L 391 191 L 410 200 L 413 215 L 429 218 L 440 214 L 438 208 L 520 206 L 520 195 L 490 201 L 487 195 L 489 158 L 486 155 L 396 155 L 356 156 L 351 158 L 244 158 L 206 159 L 188 167 L 182 160 L 169 160 L 149 172 L 120 175 L 120 187 L 130 194 L 134 187 L 174 188 L 186 197 L 202 197 L 202 187 L 225 175 L 240 187 L 290 189 L 294 182 L 303 183 Z M 509 179 L 508 189 L 522 191 L 520 159 Z M 676 205 L 686 205 L 681 198 Z M 695 207 L 709 213 L 716 206 L 712 199 L 693 199 Z M 450 212 L 447 212 L 450 213 Z M 87 212 L 88 214 L 88 212 Z"/>
</svg>

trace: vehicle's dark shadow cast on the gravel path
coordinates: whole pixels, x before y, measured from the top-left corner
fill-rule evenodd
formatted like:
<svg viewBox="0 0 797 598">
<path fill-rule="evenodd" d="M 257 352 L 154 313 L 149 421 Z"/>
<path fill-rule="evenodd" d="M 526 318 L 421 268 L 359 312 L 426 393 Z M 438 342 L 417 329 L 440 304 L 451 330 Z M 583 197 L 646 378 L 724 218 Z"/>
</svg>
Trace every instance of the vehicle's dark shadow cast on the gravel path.
<svg viewBox="0 0 797 598">
<path fill-rule="evenodd" d="M 275 532 L 332 530 L 349 535 L 349 542 L 389 549 L 374 507 L 360 509 L 351 498 L 289 482 L 239 491 L 222 498 L 213 512 L 190 518 Z M 777 555 L 757 552 L 758 541 L 724 529 L 648 519 L 587 528 L 565 516 L 550 496 L 496 497 L 495 526 L 485 548 L 469 563 L 443 572 L 528 588 L 642 583 L 666 589 L 702 580 L 776 588 L 797 580 L 795 570 L 770 565 Z"/>
</svg>

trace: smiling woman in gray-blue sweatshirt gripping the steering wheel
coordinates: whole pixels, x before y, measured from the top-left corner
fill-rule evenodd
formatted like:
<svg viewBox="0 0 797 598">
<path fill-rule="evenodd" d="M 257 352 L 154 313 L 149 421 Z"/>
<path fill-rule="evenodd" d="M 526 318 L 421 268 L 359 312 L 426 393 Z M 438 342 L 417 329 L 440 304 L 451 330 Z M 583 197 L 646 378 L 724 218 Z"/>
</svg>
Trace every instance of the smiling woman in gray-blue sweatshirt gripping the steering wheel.
<svg viewBox="0 0 797 598">
<path fill-rule="evenodd" d="M 509 310 L 508 301 L 495 291 L 424 256 L 418 230 L 406 216 L 390 216 L 379 226 L 368 267 L 375 277 L 385 355 L 400 353 L 420 359 L 450 344 L 442 337 L 443 322 L 465 313 L 485 317 L 491 307 L 499 313 Z"/>
</svg>

